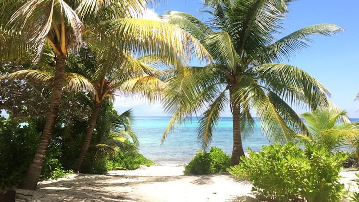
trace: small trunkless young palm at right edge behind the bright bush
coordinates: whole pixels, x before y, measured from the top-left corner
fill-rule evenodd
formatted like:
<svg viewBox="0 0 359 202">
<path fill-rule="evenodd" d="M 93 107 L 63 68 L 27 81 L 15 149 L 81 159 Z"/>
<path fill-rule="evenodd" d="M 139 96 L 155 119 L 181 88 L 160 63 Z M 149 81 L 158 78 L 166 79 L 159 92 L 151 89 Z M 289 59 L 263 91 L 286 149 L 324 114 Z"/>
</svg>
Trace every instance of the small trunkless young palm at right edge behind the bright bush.
<svg viewBox="0 0 359 202">
<path fill-rule="evenodd" d="M 315 141 L 329 152 L 339 151 L 349 145 L 357 147 L 359 123 L 348 121 L 346 111 L 315 110 L 302 113 L 301 116 L 306 122 L 309 134 L 297 135 L 299 139 L 305 142 Z M 358 147 L 356 152 L 358 155 Z"/>
</svg>

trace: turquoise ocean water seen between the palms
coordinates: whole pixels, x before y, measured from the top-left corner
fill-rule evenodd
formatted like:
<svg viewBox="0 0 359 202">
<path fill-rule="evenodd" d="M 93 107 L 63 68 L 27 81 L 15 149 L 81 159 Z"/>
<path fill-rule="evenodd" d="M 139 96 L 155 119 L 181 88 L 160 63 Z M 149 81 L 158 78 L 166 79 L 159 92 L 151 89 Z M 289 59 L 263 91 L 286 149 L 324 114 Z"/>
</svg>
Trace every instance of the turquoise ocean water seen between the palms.
<svg viewBox="0 0 359 202">
<path fill-rule="evenodd" d="M 192 118 L 191 122 L 175 129 L 161 144 L 162 135 L 170 119 L 171 117 L 159 116 L 135 117 L 132 127 L 139 138 L 139 151 L 156 164 L 188 163 L 200 150 L 197 142 L 197 119 Z M 359 119 L 351 120 L 359 122 Z M 253 134 L 243 140 L 245 152 L 248 147 L 253 151 L 260 151 L 263 145 L 268 144 L 270 142 L 261 133 L 258 122 Z M 232 117 L 222 117 L 213 132 L 210 147 L 219 147 L 231 155 L 232 146 Z"/>
</svg>

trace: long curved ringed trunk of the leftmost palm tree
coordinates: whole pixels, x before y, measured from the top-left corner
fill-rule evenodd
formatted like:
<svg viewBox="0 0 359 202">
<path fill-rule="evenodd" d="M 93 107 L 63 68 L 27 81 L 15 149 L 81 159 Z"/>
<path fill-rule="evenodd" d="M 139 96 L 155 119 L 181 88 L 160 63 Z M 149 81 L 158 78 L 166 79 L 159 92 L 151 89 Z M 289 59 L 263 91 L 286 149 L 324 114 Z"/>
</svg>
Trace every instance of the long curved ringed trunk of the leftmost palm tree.
<svg viewBox="0 0 359 202">
<path fill-rule="evenodd" d="M 62 87 L 65 73 L 66 56 L 56 57 L 56 70 L 53 89 L 50 97 L 50 108 L 46 114 L 46 122 L 41 134 L 40 144 L 37 147 L 36 153 L 27 170 L 26 178 L 21 183 L 20 188 L 26 190 L 36 189 L 37 182 L 40 178 L 43 162 L 46 157 L 46 152 L 50 141 L 52 139 L 52 131 L 57 118 L 57 112 L 61 101 Z"/>
</svg>

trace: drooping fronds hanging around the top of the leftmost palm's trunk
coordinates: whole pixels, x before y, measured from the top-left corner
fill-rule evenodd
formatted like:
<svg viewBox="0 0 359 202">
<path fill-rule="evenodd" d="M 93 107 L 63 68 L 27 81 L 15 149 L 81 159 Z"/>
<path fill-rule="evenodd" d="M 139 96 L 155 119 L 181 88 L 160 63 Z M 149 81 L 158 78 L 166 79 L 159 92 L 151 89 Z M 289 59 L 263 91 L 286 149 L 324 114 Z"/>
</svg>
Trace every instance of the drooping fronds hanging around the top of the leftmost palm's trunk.
<svg viewBox="0 0 359 202">
<path fill-rule="evenodd" d="M 33 45 L 37 50 L 37 56 L 40 56 L 46 39 L 57 54 L 66 54 L 64 51 L 70 47 L 77 50 L 82 43 L 83 24 L 63 0 L 28 1 L 11 16 L 9 23 L 15 31 L 21 32 L 23 41 Z M 61 40 L 60 47 L 55 44 L 53 37 Z"/>
</svg>

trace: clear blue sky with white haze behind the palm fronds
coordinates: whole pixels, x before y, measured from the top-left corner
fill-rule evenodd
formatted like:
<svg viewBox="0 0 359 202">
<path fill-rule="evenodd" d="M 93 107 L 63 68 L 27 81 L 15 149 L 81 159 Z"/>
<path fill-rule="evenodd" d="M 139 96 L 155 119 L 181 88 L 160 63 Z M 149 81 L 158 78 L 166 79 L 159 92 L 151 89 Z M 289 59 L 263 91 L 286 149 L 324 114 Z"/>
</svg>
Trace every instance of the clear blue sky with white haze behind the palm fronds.
<svg viewBox="0 0 359 202">
<path fill-rule="evenodd" d="M 188 12 L 204 20 L 207 16 L 197 12 L 200 0 L 167 0 L 154 9 L 157 14 L 166 10 Z M 287 19 L 282 25 L 283 36 L 305 26 L 319 23 L 337 24 L 345 29 L 331 37 L 312 36 L 310 47 L 296 55 L 287 64 L 297 66 L 321 82 L 332 93 L 331 100 L 349 117 L 359 118 L 359 1 L 358 0 L 297 0 L 290 3 Z M 280 37 L 280 36 L 279 36 Z M 278 38 L 279 38 L 278 37 Z M 117 99 L 119 112 L 130 107 L 137 116 L 166 115 L 160 104 L 142 104 L 131 99 Z M 297 111 L 298 113 L 304 111 Z M 222 116 L 231 116 L 229 110 Z"/>
</svg>

